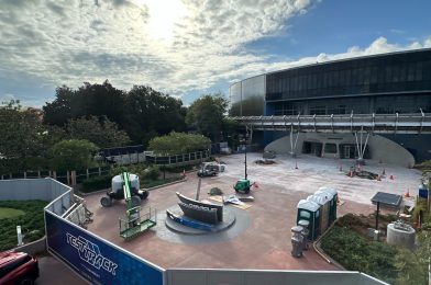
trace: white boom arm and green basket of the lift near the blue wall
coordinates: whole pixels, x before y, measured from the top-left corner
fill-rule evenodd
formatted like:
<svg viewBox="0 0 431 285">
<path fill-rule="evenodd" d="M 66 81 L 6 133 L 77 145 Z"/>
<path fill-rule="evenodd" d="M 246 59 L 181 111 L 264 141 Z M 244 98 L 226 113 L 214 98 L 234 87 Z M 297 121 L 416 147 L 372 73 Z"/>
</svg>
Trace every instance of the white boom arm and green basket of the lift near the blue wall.
<svg viewBox="0 0 431 285">
<path fill-rule="evenodd" d="M 144 209 L 136 205 L 136 200 L 130 192 L 129 173 L 121 174 L 123 181 L 124 201 L 128 205 L 125 210 L 125 218 L 120 218 L 120 237 L 131 239 L 145 230 L 157 225 L 156 209 L 146 207 Z"/>
</svg>

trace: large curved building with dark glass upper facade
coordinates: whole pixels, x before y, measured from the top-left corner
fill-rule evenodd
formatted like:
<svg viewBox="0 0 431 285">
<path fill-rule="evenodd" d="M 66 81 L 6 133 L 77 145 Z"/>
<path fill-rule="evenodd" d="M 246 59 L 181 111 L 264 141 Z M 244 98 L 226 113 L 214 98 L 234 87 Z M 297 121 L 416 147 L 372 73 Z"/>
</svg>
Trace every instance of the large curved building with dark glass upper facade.
<svg viewBox="0 0 431 285">
<path fill-rule="evenodd" d="M 230 87 L 232 116 L 431 113 L 431 49 L 316 62 L 269 72 Z M 256 137 L 256 136 L 255 136 Z M 267 149 L 287 152 L 286 133 L 264 132 Z M 378 141 L 377 141 L 378 140 Z M 277 142 L 278 141 L 278 142 Z M 329 142 L 331 141 L 331 142 Z M 300 152 L 353 158 L 352 135 L 301 134 Z M 390 145 L 388 158 L 377 145 Z M 328 145 L 328 146 L 327 146 Z M 376 135 L 373 159 L 410 166 L 431 159 L 430 135 Z"/>
</svg>

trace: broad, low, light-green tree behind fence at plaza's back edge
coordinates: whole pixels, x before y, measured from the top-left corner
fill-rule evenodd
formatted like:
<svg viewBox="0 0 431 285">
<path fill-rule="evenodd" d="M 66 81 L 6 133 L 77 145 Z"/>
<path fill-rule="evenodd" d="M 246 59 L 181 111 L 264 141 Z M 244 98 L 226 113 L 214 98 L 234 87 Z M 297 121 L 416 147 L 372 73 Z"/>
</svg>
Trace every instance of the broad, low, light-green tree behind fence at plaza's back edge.
<svg viewBox="0 0 431 285">
<path fill-rule="evenodd" d="M 148 149 L 158 155 L 178 155 L 208 149 L 211 140 L 202 135 L 172 132 L 150 140 Z"/>
</svg>

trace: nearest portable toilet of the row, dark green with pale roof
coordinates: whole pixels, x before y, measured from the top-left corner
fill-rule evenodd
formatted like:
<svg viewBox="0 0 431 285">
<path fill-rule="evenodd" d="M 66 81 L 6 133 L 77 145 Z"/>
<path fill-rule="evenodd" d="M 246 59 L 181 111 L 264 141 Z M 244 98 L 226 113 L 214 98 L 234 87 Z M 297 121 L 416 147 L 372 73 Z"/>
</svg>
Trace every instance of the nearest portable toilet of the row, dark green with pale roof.
<svg viewBox="0 0 431 285">
<path fill-rule="evenodd" d="M 297 205 L 297 225 L 300 220 L 307 220 L 309 223 L 309 240 L 316 240 L 319 236 L 319 216 L 320 216 L 320 206 L 319 204 L 301 200 Z"/>
</svg>

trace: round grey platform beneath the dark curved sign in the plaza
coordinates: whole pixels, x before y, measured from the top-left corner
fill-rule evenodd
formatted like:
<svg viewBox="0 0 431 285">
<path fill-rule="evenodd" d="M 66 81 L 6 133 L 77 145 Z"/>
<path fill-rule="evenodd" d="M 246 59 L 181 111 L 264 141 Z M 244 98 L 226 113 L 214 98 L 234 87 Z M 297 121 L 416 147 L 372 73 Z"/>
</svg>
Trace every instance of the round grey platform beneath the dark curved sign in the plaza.
<svg viewBox="0 0 431 285">
<path fill-rule="evenodd" d="M 179 208 L 178 205 L 175 205 L 168 209 L 174 215 L 177 215 L 178 217 L 183 217 L 183 210 Z M 183 235 L 212 235 L 214 232 L 219 232 L 228 229 L 235 223 L 235 219 L 236 219 L 235 213 L 230 207 L 223 207 L 223 221 L 214 225 L 211 231 L 190 228 L 181 224 L 178 224 L 169 218 L 166 218 L 165 225 L 168 229 Z"/>
</svg>

